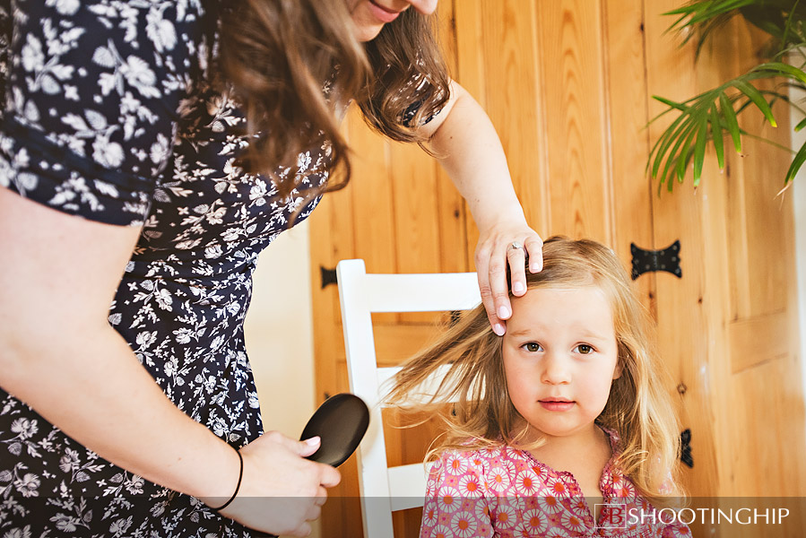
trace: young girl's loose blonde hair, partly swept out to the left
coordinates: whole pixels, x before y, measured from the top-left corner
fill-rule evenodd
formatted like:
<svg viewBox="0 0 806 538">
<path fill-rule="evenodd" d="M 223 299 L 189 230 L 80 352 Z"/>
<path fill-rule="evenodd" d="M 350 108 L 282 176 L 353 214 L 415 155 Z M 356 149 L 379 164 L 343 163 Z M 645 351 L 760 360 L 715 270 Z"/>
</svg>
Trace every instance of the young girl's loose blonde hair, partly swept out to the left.
<svg viewBox="0 0 806 538">
<path fill-rule="evenodd" d="M 529 289 L 599 287 L 610 300 L 621 376 L 596 422 L 620 435 L 620 470 L 638 492 L 657 505 L 682 495 L 673 474 L 678 469 L 679 430 L 670 395 L 663 386 L 662 365 L 651 339 L 646 309 L 631 289 L 628 274 L 613 251 L 593 240 L 548 239 L 543 269 L 526 273 Z M 492 332 L 480 305 L 467 311 L 438 342 L 413 357 L 397 374 L 387 396 L 404 411 L 436 412 L 447 425 L 441 444 L 429 452 L 517 446 L 527 430 L 507 391 L 502 338 Z M 438 388 L 422 393 L 427 379 L 447 370 Z M 416 400 L 418 404 L 412 404 Z M 446 406 L 447 401 L 452 401 Z M 527 425 L 528 427 L 528 425 Z"/>
</svg>

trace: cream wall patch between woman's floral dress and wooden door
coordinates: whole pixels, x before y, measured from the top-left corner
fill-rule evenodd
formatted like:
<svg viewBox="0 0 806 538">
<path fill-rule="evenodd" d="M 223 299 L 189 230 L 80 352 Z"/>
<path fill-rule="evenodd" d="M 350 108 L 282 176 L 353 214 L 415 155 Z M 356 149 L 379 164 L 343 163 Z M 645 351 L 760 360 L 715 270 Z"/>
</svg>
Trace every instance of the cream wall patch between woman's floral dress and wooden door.
<svg viewBox="0 0 806 538">
<path fill-rule="evenodd" d="M 265 430 L 299 438 L 315 410 L 308 222 L 283 232 L 257 262 L 245 324 Z M 314 538 L 320 535 L 318 522 Z"/>
</svg>

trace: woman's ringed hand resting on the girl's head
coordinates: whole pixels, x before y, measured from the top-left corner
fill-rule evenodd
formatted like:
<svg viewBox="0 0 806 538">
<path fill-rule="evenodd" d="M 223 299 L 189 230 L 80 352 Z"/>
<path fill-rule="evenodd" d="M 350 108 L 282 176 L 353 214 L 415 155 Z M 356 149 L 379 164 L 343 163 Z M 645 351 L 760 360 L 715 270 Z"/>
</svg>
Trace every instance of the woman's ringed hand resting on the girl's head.
<svg viewBox="0 0 806 538">
<path fill-rule="evenodd" d="M 543 241 L 525 221 L 496 222 L 481 231 L 476 245 L 475 263 L 479 277 L 481 302 L 487 310 L 492 330 L 498 336 L 507 331 L 506 321 L 512 315 L 507 288 L 507 265 L 512 276 L 512 294 L 520 297 L 526 292 L 526 255 L 529 271 L 542 269 Z"/>
</svg>

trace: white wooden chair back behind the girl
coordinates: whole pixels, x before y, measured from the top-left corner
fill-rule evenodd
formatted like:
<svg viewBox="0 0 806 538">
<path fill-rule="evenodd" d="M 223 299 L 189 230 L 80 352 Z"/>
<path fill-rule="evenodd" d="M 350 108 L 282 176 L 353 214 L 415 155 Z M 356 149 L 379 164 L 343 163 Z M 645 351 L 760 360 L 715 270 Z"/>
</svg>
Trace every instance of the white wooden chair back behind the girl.
<svg viewBox="0 0 806 538">
<path fill-rule="evenodd" d="M 363 260 L 336 267 L 350 389 L 370 410 L 358 451 L 361 516 L 365 538 L 393 535 L 392 512 L 423 505 L 422 464 L 387 467 L 381 390 L 398 368 L 378 368 L 373 312 L 432 312 L 474 308 L 481 302 L 476 273 L 368 274 Z"/>
</svg>

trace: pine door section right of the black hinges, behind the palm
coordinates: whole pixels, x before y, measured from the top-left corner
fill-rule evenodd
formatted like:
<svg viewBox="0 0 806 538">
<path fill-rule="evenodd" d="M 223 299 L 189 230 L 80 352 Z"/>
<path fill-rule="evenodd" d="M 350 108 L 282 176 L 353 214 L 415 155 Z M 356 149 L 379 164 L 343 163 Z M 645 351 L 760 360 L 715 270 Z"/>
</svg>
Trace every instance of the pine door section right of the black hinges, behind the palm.
<svg viewBox="0 0 806 538">
<path fill-rule="evenodd" d="M 657 36 L 646 46 L 650 94 L 689 98 L 761 59 L 767 37 L 734 20 L 695 66 L 693 47 L 675 48 L 673 36 L 662 36 L 668 21 L 660 13 L 679 3 L 645 4 L 647 36 Z M 650 101 L 650 117 L 658 105 Z M 760 114 L 741 126 L 788 146 L 788 110 L 775 112 L 777 129 Z M 661 125 L 650 127 L 653 139 Z M 709 156 L 701 187 L 689 182 L 652 199 L 655 244 L 680 239 L 684 246 L 680 282 L 659 277 L 657 313 L 661 350 L 679 382 L 681 419 L 692 432 L 689 491 L 703 505 L 778 504 L 793 512 L 784 527 L 708 524 L 703 535 L 795 537 L 804 527 L 793 199 L 780 192 L 790 161 L 745 137 L 741 155 L 730 152 L 724 170 Z"/>
</svg>

